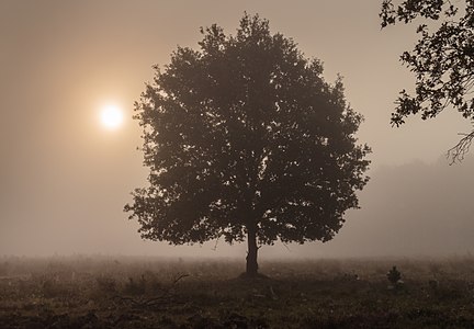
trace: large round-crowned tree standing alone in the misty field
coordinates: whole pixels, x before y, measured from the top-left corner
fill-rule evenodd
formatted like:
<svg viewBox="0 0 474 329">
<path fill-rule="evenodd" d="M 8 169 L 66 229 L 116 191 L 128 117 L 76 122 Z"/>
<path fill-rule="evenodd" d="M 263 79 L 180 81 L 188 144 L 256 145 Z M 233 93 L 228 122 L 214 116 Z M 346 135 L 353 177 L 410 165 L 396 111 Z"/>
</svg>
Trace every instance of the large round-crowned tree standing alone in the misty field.
<svg viewBox="0 0 474 329">
<path fill-rule="evenodd" d="M 320 61 L 245 14 L 237 34 L 201 29 L 200 49 L 178 47 L 155 66 L 135 104 L 149 185 L 125 206 L 142 237 L 194 243 L 247 238 L 259 245 L 329 240 L 358 207 L 370 149 L 357 145 L 362 116 Z"/>
</svg>

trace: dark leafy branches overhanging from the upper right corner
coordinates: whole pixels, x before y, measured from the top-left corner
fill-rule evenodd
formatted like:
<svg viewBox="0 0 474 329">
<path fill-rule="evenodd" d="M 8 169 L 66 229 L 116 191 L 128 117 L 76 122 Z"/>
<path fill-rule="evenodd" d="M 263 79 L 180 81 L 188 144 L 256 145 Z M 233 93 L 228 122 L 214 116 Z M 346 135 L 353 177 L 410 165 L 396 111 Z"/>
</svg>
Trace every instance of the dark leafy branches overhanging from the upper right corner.
<svg viewBox="0 0 474 329">
<path fill-rule="evenodd" d="M 382 29 L 397 21 L 409 23 L 417 18 L 441 21 L 435 32 L 426 24 L 418 25 L 420 34 L 415 48 L 405 52 L 400 60 L 415 73 L 415 94 L 402 90 L 392 113 L 392 124 L 399 126 L 405 117 L 421 114 L 421 118 L 436 117 L 445 107 L 458 110 L 474 123 L 474 1 L 406 0 L 397 5 L 383 0 Z M 462 160 L 474 131 L 461 134 L 463 138 L 448 151 L 452 162 Z"/>
</svg>

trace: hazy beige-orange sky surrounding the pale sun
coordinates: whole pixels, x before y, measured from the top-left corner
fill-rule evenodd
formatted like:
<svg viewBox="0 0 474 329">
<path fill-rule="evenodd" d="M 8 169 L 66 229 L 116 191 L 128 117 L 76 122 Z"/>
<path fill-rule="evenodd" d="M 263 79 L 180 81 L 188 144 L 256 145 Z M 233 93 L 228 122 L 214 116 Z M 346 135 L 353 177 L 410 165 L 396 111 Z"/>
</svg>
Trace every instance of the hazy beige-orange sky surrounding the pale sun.
<svg viewBox="0 0 474 329">
<path fill-rule="evenodd" d="M 142 140 L 133 103 L 153 79 L 151 65 L 166 65 L 177 45 L 196 47 L 200 26 L 217 23 L 234 34 L 245 11 L 268 19 L 273 32 L 321 59 L 328 81 L 345 77 L 348 101 L 365 117 L 360 140 L 373 149 L 371 173 L 379 175 L 368 190 L 380 189 L 373 195 L 391 189 L 380 183 L 394 174 L 387 166 L 445 166 L 462 180 L 456 172 L 473 162 L 448 167 L 439 160 L 459 132 L 470 131 L 458 113 L 390 125 L 397 92 L 413 86 L 398 58 L 416 35 L 414 26 L 381 31 L 380 2 L 0 0 L 0 254 L 168 252 L 142 242 L 122 211 L 147 174 L 136 150 Z M 116 131 L 99 121 L 110 102 L 125 111 Z M 404 186 L 413 190 L 409 181 Z M 361 197 L 363 209 L 353 216 L 376 216 L 373 208 L 362 213 L 370 204 Z M 357 245 L 357 231 L 348 225 L 338 243 L 347 237 Z M 235 250 L 242 253 L 245 246 Z"/>
</svg>

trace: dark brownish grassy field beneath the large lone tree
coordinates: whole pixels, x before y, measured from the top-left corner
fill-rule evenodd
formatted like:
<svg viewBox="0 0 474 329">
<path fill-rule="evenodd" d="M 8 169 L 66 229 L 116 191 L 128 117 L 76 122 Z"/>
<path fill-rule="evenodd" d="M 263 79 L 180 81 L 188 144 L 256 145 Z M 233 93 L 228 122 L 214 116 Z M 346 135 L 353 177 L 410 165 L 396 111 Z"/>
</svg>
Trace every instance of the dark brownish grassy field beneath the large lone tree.
<svg viewBox="0 0 474 329">
<path fill-rule="evenodd" d="M 403 283 L 390 286 L 393 265 Z M 0 258 L 0 328 L 474 328 L 474 259 Z"/>
</svg>

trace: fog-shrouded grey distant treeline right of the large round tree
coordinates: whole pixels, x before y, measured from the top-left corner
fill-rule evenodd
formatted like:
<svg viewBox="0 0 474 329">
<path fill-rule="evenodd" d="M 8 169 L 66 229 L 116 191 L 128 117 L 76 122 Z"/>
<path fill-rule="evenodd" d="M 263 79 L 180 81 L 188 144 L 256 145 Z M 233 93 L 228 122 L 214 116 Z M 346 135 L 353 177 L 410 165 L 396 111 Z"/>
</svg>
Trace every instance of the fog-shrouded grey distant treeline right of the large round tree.
<svg viewBox="0 0 474 329">
<path fill-rule="evenodd" d="M 302 248 L 318 257 L 450 257 L 474 250 L 472 158 L 449 166 L 415 161 L 384 166 L 360 194 L 361 209 L 326 245 Z M 295 252 L 298 249 L 295 249 Z"/>
</svg>

